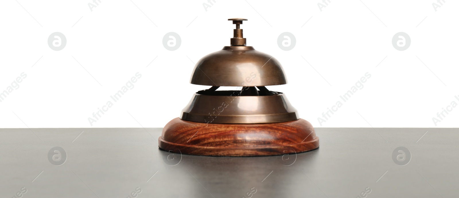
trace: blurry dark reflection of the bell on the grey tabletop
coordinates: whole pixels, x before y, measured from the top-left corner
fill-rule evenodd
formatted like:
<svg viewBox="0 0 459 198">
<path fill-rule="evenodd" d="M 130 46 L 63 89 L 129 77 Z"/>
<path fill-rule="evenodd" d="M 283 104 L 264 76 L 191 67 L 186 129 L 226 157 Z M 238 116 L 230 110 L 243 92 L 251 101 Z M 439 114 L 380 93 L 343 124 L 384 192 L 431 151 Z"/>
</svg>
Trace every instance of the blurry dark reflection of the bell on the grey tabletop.
<svg viewBox="0 0 459 198">
<path fill-rule="evenodd" d="M 163 159 L 170 154 L 161 153 Z M 175 154 L 173 156 L 175 162 L 168 162 L 168 164 L 175 165 L 181 160 L 179 164 L 175 166 L 163 164 L 161 169 L 167 173 L 174 172 L 176 176 L 173 181 L 163 182 L 170 182 L 168 186 L 180 187 L 181 191 L 189 194 L 189 197 L 203 197 L 203 194 L 207 194 L 212 198 L 196 180 L 216 198 L 248 198 L 249 192 L 255 192 L 255 189 L 257 191 L 255 194 L 252 193 L 252 198 L 297 197 L 298 189 L 293 189 L 298 187 L 297 182 L 308 183 L 308 177 L 298 169 L 309 174 L 309 171 L 319 166 L 318 155 L 319 152 L 307 152 L 235 158 Z M 169 159 L 172 159 L 171 156 Z M 216 178 L 220 179 L 217 181 Z M 306 186 L 305 188 L 309 190 L 320 192 L 312 183 Z M 289 188 L 292 189 L 288 190 Z"/>
</svg>

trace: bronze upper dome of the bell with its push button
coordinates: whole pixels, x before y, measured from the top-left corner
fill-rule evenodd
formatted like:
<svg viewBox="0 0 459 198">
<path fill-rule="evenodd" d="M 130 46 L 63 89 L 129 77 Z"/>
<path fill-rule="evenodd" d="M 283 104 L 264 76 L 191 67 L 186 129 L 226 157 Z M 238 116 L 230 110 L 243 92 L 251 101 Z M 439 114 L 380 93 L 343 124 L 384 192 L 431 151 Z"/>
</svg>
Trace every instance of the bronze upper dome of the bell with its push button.
<svg viewBox="0 0 459 198">
<path fill-rule="evenodd" d="M 240 24 L 247 19 L 228 19 L 236 24 L 231 46 L 204 56 L 199 60 L 190 83 L 208 86 L 269 86 L 287 83 L 284 70 L 273 56 L 246 46 Z M 252 79 L 252 76 L 256 76 Z"/>
</svg>

